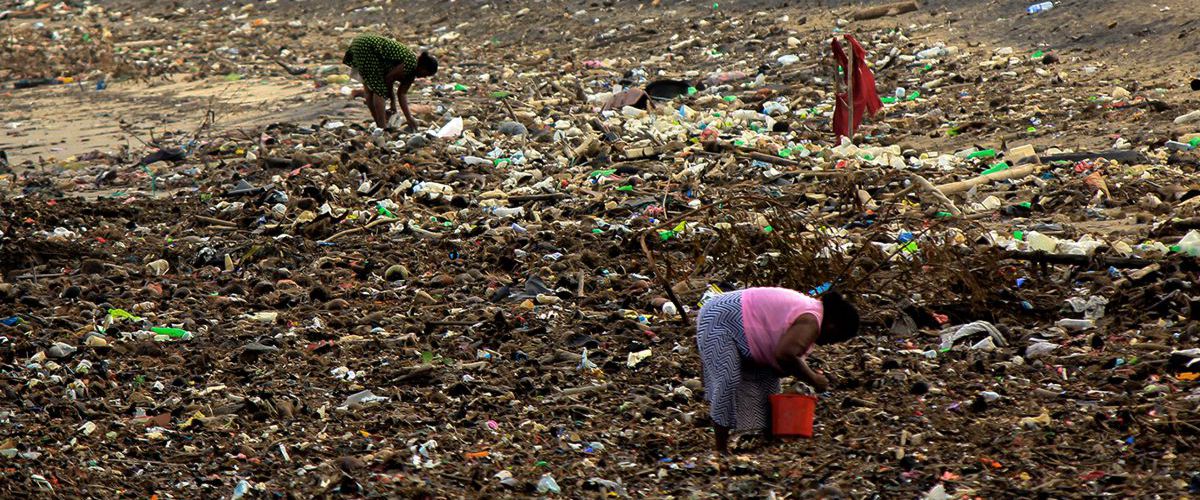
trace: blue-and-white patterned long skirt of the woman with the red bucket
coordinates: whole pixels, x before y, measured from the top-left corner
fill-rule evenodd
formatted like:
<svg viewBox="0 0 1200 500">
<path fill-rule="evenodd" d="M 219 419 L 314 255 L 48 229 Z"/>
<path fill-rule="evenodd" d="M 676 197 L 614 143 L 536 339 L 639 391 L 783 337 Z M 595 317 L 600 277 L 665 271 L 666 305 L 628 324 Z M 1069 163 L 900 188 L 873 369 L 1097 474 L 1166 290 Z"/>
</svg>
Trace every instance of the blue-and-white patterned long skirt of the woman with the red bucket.
<svg viewBox="0 0 1200 500">
<path fill-rule="evenodd" d="M 742 291 L 710 299 L 696 321 L 704 399 L 713 422 L 734 430 L 766 429 L 769 397 L 780 391 L 779 376 L 750 357 L 742 326 Z"/>
</svg>

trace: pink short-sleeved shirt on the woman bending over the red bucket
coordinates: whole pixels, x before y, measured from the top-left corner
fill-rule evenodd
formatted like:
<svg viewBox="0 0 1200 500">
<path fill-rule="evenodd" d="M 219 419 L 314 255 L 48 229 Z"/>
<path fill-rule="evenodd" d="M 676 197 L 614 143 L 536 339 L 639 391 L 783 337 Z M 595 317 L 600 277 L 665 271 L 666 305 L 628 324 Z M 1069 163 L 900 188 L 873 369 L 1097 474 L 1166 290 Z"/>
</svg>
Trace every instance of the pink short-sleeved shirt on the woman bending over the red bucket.
<svg viewBox="0 0 1200 500">
<path fill-rule="evenodd" d="M 748 288 L 742 290 L 742 327 L 745 330 L 750 356 L 755 361 L 779 368 L 775 348 L 796 319 L 812 314 L 817 326 L 824 317 L 820 300 L 786 288 Z M 804 353 L 812 351 L 812 345 Z"/>
</svg>

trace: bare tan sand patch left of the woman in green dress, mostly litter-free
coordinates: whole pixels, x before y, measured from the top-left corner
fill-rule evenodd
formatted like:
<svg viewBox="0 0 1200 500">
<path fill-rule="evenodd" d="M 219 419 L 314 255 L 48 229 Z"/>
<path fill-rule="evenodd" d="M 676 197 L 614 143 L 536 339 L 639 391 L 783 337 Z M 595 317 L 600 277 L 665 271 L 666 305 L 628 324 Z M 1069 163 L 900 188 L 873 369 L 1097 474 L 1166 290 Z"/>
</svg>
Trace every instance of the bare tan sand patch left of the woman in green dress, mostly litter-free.
<svg viewBox="0 0 1200 500">
<path fill-rule="evenodd" d="M 215 129 L 341 116 L 348 100 L 328 98 L 311 82 L 265 78 L 224 82 L 122 82 L 12 90 L 0 110 L 0 149 L 10 161 L 66 159 L 89 151 L 140 146 L 151 134 L 194 129 L 211 109 Z"/>
</svg>

